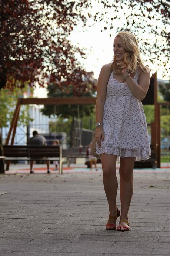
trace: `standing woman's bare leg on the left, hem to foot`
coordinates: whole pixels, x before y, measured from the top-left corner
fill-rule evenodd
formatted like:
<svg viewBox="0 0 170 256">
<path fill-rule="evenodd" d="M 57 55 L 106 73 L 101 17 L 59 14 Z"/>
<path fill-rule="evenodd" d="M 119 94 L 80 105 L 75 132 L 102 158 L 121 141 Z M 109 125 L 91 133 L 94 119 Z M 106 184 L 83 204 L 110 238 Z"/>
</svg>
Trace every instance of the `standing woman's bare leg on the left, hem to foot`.
<svg viewBox="0 0 170 256">
<path fill-rule="evenodd" d="M 116 195 L 117 195 L 117 177 L 116 177 L 116 155 L 101 154 L 101 164 L 103 169 L 103 184 L 109 204 L 111 216 L 117 215 Z M 116 220 L 109 219 L 109 224 L 116 224 Z"/>
</svg>

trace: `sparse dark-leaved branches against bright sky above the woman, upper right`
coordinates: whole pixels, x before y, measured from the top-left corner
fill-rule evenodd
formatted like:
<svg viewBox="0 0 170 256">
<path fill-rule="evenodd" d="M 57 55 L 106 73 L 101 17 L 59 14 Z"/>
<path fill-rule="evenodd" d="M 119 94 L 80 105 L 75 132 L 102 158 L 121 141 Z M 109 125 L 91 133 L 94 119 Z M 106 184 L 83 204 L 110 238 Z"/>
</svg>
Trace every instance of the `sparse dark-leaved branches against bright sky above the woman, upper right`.
<svg viewBox="0 0 170 256">
<path fill-rule="evenodd" d="M 108 29 L 110 36 L 115 29 L 116 32 L 126 30 L 134 33 L 147 56 L 147 64 L 153 63 L 157 70 L 164 66 L 163 76 L 167 75 L 170 70 L 169 1 L 102 0 L 99 4 L 102 12 L 97 12 L 94 20 L 101 22 L 102 30 Z M 117 20 L 119 26 L 115 27 Z"/>
</svg>

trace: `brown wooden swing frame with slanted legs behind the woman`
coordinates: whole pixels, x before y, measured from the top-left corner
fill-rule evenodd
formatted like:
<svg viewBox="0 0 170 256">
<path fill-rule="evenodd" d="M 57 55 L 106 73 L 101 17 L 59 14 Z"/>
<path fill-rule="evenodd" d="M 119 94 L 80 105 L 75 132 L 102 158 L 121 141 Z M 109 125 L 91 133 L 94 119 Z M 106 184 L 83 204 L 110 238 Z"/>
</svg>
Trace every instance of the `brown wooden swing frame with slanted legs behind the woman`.
<svg viewBox="0 0 170 256">
<path fill-rule="evenodd" d="M 155 163 L 160 168 L 160 106 L 170 105 L 170 103 L 157 102 L 157 76 L 156 73 L 150 78 L 150 86 L 145 99 L 142 101 L 143 105 L 154 105 L 154 122 L 147 124 L 151 126 L 151 147 L 155 153 Z M 73 105 L 89 105 L 96 104 L 95 97 L 69 97 L 69 98 L 19 98 L 16 109 L 14 111 L 13 119 L 6 139 L 6 145 L 14 144 L 14 137 L 16 134 L 17 121 L 21 105 L 41 104 L 41 105 L 59 105 L 59 104 L 73 104 Z M 141 162 L 142 164 L 142 162 Z"/>
</svg>

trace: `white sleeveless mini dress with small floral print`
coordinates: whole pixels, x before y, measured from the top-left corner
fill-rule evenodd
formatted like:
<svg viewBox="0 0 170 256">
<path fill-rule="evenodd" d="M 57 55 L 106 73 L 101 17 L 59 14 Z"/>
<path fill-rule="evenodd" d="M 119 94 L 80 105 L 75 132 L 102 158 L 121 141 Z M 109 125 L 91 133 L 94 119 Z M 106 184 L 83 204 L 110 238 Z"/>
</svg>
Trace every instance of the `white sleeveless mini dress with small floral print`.
<svg viewBox="0 0 170 256">
<path fill-rule="evenodd" d="M 150 158 L 151 150 L 142 102 L 130 91 L 127 83 L 114 79 L 113 72 L 107 83 L 103 112 L 104 141 L 96 154 L 136 157 L 135 161 Z M 138 83 L 136 69 L 133 80 Z"/>
</svg>

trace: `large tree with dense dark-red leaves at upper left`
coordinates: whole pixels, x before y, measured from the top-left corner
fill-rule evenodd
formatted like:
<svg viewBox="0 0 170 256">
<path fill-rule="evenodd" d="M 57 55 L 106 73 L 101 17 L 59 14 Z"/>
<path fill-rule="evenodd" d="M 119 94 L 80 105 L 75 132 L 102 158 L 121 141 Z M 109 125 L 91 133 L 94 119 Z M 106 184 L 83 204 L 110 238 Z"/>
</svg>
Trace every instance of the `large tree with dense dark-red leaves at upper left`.
<svg viewBox="0 0 170 256">
<path fill-rule="evenodd" d="M 72 85 L 74 95 L 77 88 L 86 91 L 86 71 L 75 53 L 82 58 L 85 55 L 67 37 L 77 23 L 86 24 L 89 16 L 82 8 L 86 9 L 88 2 L 0 0 L 0 89 L 12 91 L 26 84 L 34 87 L 51 82 L 61 88 L 65 81 Z M 0 155 L 1 149 L 0 144 Z"/>
</svg>

